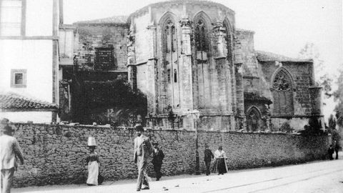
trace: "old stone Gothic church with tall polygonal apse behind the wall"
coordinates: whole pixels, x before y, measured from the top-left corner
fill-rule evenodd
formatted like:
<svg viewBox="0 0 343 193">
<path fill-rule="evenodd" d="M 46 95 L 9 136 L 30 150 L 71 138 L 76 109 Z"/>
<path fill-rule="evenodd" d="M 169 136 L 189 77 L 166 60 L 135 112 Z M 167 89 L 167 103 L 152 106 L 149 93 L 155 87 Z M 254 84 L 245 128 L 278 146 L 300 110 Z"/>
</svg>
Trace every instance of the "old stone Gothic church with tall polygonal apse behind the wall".
<svg viewBox="0 0 343 193">
<path fill-rule="evenodd" d="M 195 0 L 79 21 L 74 63 L 126 77 L 146 95 L 146 125 L 156 129 L 299 130 L 322 120 L 312 60 L 256 51 L 254 31 L 235 21 L 227 6 Z"/>
</svg>

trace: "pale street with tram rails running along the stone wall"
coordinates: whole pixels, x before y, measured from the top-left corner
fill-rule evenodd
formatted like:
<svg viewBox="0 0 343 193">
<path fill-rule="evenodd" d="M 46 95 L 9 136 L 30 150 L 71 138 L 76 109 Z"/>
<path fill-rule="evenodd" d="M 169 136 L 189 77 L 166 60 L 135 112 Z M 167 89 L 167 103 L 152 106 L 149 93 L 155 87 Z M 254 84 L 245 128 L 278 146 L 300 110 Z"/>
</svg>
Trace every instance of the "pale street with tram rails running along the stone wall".
<svg viewBox="0 0 343 193">
<path fill-rule="evenodd" d="M 311 162 L 284 167 L 268 167 L 229 171 L 224 175 L 181 175 L 162 177 L 150 182 L 141 192 L 304 192 L 343 193 L 343 154 L 332 161 Z M 86 193 L 136 192 L 136 180 L 104 182 L 88 187 L 85 184 L 54 185 L 12 189 L 12 192 Z"/>
</svg>

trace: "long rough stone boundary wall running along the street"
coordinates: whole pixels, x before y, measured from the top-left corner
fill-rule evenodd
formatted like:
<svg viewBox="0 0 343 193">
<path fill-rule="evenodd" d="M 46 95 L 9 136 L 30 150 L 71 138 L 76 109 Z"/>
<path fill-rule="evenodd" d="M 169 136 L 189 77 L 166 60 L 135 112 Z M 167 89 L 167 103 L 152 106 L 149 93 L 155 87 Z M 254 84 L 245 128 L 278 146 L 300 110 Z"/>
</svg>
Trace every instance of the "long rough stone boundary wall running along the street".
<svg viewBox="0 0 343 193">
<path fill-rule="evenodd" d="M 96 138 L 100 173 L 105 180 L 135 178 L 132 161 L 136 137 L 133 129 L 113 127 L 12 124 L 24 152 L 25 164 L 15 174 L 15 187 L 86 182 L 87 139 Z M 237 132 L 198 132 L 200 167 L 204 172 L 204 145 L 214 151 L 222 145 L 229 169 L 275 166 L 322 159 L 327 137 L 301 137 L 289 134 Z M 151 142 L 159 142 L 166 155 L 164 175 L 193 174 L 195 133 L 185 130 L 147 130 Z M 149 176 L 154 177 L 152 164 Z"/>
</svg>

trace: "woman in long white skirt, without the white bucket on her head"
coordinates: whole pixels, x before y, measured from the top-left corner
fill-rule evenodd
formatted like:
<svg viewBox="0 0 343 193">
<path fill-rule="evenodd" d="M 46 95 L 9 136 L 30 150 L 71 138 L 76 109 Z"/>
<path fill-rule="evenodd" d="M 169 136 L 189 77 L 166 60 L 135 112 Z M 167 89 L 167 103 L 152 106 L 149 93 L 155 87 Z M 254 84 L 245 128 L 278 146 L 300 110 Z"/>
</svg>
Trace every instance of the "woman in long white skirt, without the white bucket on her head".
<svg viewBox="0 0 343 193">
<path fill-rule="evenodd" d="M 86 158 L 88 164 L 87 185 L 96 186 L 98 184 L 99 175 L 99 155 L 94 152 L 95 146 L 89 146 L 89 156 Z"/>
</svg>

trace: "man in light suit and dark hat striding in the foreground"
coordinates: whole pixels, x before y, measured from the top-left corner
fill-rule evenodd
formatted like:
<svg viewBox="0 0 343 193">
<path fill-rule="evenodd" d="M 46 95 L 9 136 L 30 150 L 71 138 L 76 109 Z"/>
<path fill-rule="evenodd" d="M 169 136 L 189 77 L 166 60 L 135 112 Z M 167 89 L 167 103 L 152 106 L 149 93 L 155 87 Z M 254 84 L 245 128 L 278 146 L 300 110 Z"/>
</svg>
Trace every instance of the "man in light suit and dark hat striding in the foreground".
<svg viewBox="0 0 343 193">
<path fill-rule="evenodd" d="M 149 189 L 148 174 L 146 167 L 148 166 L 150 155 L 153 151 L 149 137 L 144 134 L 144 129 L 141 125 L 136 125 L 137 137 L 134 139 L 134 163 L 138 167 L 138 179 L 136 191 L 141 189 Z"/>
</svg>

